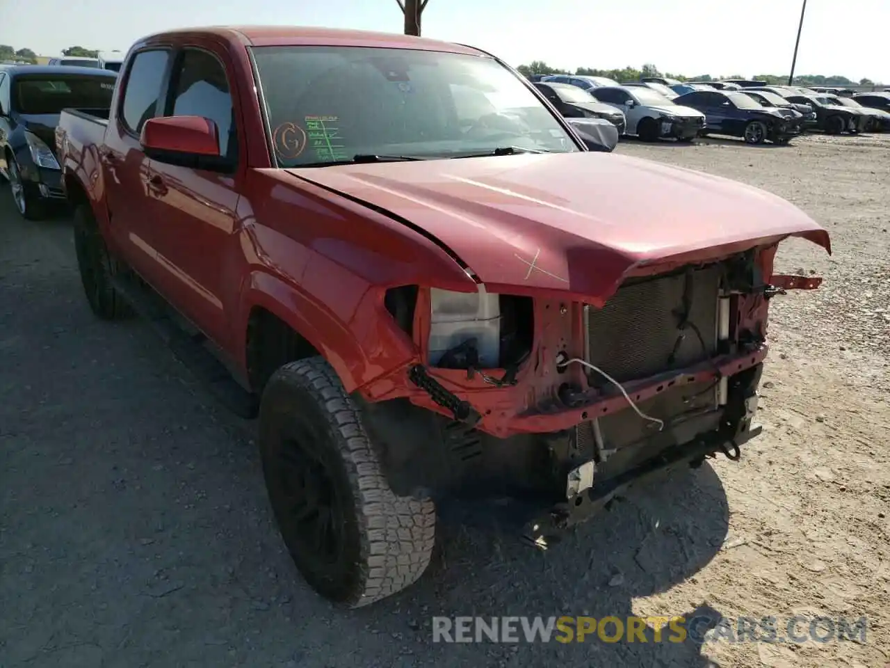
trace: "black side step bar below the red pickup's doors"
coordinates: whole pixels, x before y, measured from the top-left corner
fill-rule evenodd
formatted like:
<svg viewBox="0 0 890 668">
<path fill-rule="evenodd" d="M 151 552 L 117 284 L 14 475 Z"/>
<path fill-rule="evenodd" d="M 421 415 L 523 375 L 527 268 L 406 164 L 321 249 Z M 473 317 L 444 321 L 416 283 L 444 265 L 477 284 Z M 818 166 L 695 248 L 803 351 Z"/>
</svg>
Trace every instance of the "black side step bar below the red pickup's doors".
<svg viewBox="0 0 890 668">
<path fill-rule="evenodd" d="M 241 387 L 225 365 L 207 350 L 203 334 L 190 335 L 183 330 L 163 299 L 127 274 L 117 274 L 113 284 L 125 302 L 149 323 L 176 359 L 189 368 L 218 402 L 240 418 L 256 417 L 259 408 L 256 396 Z"/>
</svg>

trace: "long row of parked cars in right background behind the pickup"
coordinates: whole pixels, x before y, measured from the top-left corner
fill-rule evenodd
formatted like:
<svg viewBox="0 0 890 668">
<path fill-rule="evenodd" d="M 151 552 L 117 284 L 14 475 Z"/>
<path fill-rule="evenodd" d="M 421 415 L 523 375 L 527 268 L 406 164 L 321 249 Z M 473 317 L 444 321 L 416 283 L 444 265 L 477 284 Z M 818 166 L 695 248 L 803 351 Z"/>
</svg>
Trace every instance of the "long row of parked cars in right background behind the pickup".
<svg viewBox="0 0 890 668">
<path fill-rule="evenodd" d="M 756 79 L 678 81 L 643 77 L 620 84 L 607 77 L 532 78 L 564 116 L 608 119 L 620 134 L 643 141 L 723 134 L 746 143 L 789 143 L 812 130 L 828 134 L 890 131 L 890 93 L 820 93 L 769 86 Z M 574 90 L 572 90 L 574 88 Z M 603 110 L 602 103 L 609 110 Z M 621 117 L 617 114 L 620 113 Z"/>
</svg>

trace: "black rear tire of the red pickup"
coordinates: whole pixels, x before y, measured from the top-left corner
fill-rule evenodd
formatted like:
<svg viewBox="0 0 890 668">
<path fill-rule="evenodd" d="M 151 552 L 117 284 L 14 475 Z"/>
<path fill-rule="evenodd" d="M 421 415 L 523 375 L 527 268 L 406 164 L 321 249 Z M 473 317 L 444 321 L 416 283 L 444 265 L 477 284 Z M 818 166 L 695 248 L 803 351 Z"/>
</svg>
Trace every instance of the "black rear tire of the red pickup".
<svg viewBox="0 0 890 668">
<path fill-rule="evenodd" d="M 111 257 L 93 216 L 93 209 L 88 204 L 81 204 L 74 211 L 74 249 L 80 282 L 93 314 L 102 320 L 131 317 L 133 310 L 111 282 L 120 265 Z"/>
</svg>

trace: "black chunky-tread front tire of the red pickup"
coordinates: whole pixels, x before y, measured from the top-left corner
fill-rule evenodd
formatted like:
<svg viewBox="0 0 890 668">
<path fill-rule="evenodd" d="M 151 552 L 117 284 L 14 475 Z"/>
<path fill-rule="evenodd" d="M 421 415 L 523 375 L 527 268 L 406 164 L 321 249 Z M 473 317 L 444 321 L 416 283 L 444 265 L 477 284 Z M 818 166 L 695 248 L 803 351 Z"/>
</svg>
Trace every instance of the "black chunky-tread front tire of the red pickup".
<svg viewBox="0 0 890 668">
<path fill-rule="evenodd" d="M 312 589 L 336 604 L 362 607 L 417 581 L 433 553 L 433 501 L 392 493 L 360 410 L 328 363 L 311 357 L 273 373 L 263 389 L 259 421 L 271 507 L 287 550 Z M 303 445 L 298 445 L 301 435 Z M 342 549 L 324 564 L 289 511 L 293 497 L 283 474 L 288 448 L 307 446 L 320 456 L 329 489 L 341 500 L 336 505 L 342 510 Z"/>
</svg>

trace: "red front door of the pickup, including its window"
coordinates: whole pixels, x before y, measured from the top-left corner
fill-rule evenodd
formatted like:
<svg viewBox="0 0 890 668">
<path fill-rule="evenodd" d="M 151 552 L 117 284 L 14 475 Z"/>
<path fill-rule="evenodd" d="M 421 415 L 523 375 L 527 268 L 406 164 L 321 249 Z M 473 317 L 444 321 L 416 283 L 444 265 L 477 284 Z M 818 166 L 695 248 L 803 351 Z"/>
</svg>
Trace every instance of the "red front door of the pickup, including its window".
<svg viewBox="0 0 890 668">
<path fill-rule="evenodd" d="M 208 45 L 212 46 L 212 45 Z M 230 68 L 231 71 L 231 68 Z M 220 155 L 231 173 L 179 167 L 151 160 L 151 239 L 158 251 L 158 289 L 182 314 L 220 346 L 231 328 L 223 308 L 223 266 L 238 253 L 239 132 L 231 77 L 209 48 L 186 46 L 176 53 L 164 116 L 200 116 L 214 121 Z M 228 252 L 228 255 L 227 255 Z"/>
</svg>

